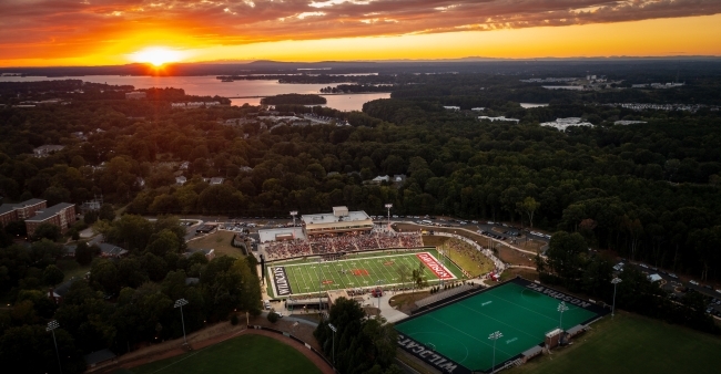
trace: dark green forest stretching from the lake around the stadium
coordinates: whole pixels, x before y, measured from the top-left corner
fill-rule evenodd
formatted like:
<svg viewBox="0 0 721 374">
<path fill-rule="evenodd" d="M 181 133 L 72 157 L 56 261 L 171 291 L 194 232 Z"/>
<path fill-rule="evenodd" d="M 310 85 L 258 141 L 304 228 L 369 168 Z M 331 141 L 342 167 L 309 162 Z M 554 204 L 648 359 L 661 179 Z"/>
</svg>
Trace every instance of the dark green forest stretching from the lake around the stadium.
<svg viewBox="0 0 721 374">
<path fill-rule="evenodd" d="M 92 347 L 122 353 L 134 344 L 180 336 L 172 308 L 180 294 L 193 294 L 186 314 L 191 331 L 227 319 L 234 309 L 257 311 L 257 285 L 246 281 L 248 289 L 232 289 L 240 280 L 257 281 L 253 258 L 183 257 L 184 240 L 172 217 L 179 215 L 286 217 L 290 210 L 323 212 L 338 205 L 385 215 L 384 205 L 392 202 L 392 214 L 561 231 L 551 242 L 560 249 L 558 256 L 539 262 L 539 270 L 548 281 L 571 289 L 576 284 L 588 294 L 608 291 L 608 285 L 598 285 L 605 278 L 592 277 L 591 270 L 610 276 L 608 261 L 588 257 L 588 248 L 719 282 L 719 75 L 698 74 L 671 90 L 598 92 L 551 92 L 518 79 L 398 74 L 392 98 L 366 103 L 362 112 L 276 106 L 281 114 L 313 113 L 351 126 L 273 125 L 263 107 L 248 105 L 173 110 L 171 102 L 196 100 L 182 87 L 150 90 L 148 100 L 128 101 L 128 87 L 85 87 L 75 81 L 32 89 L 0 84 L 6 104 L 0 107 L 2 202 L 43 198 L 49 206 L 80 205 L 102 195 L 109 207 L 85 215 L 68 236 L 77 238 L 79 230 L 94 225 L 110 242 L 131 251 L 111 261 L 100 258 L 97 248 L 80 246 L 85 254 L 78 260 L 91 267 L 90 276 L 74 282 L 58 307 L 45 292 L 64 277 L 57 267 L 62 246 L 48 240 L 57 238 L 17 240 L 21 222 L 2 227 L 0 297 L 14 307 L 0 313 L 0 352 L 37 362 L 33 371 L 53 370 L 33 361 L 32 352 L 50 339 L 42 321 L 54 315 L 63 326 L 58 334 L 68 353 L 63 356 L 72 357 L 63 367 L 80 372 L 78 353 Z M 82 93 L 71 93 L 79 87 Z M 50 97 L 67 104 L 13 106 Z M 549 105 L 521 107 L 526 102 Z M 615 102 L 704 106 L 691 113 L 601 105 Z M 520 121 L 479 121 L 474 107 L 484 107 L 487 116 Z M 539 125 L 562 117 L 580 117 L 593 126 L 559 132 Z M 646 123 L 615 124 L 621 120 Z M 79 132 L 83 137 L 73 135 Z M 48 144 L 65 147 L 33 157 L 33 148 Z M 182 185 L 175 179 L 181 175 L 187 179 Z M 370 183 L 379 175 L 406 178 Z M 224 181 L 211 186 L 212 177 Z M 113 210 L 120 208 L 124 214 L 113 220 Z M 162 219 L 151 224 L 141 216 Z M 578 269 L 588 271 L 579 274 Z M 637 279 L 642 300 L 657 300 L 638 280 L 641 276 L 623 277 L 629 284 Z M 199 283 L 186 285 L 186 278 L 199 278 Z M 634 291 L 624 292 L 620 303 L 644 312 Z M 671 304 L 666 299 L 654 303 Z M 704 329 L 703 320 L 691 315 L 698 304 L 689 299 L 688 308 L 663 318 L 697 321 L 694 328 Z M 52 352 L 48 354 L 45 362 L 52 364 Z"/>
</svg>

